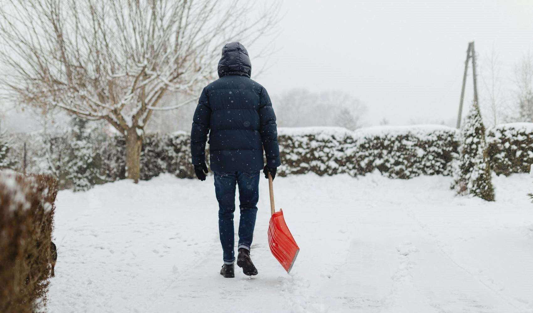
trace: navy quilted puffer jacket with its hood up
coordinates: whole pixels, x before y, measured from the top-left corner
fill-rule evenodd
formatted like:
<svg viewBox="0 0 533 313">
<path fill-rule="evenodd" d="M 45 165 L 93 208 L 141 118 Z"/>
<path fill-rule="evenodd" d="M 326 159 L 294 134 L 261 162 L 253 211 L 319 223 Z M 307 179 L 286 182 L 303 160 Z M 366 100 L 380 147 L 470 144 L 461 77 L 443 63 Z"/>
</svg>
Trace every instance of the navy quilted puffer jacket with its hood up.
<svg viewBox="0 0 533 313">
<path fill-rule="evenodd" d="M 278 167 L 276 115 L 266 89 L 250 79 L 252 64 L 238 42 L 222 48 L 219 79 L 200 95 L 191 129 L 192 164 L 205 162 L 209 134 L 211 170 L 258 171 L 263 149 L 269 167 Z"/>
</svg>

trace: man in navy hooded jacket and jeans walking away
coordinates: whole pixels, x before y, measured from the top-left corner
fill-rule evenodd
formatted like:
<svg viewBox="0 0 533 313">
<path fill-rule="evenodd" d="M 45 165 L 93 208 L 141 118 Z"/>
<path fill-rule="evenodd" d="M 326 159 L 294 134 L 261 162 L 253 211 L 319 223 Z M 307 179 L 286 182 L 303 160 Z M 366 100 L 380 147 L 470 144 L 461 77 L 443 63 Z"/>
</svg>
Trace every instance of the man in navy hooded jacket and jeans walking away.
<svg viewBox="0 0 533 313">
<path fill-rule="evenodd" d="M 259 200 L 259 174 L 263 169 L 265 177 L 270 173 L 274 178 L 276 168 L 281 164 L 276 115 L 266 89 L 250 79 L 252 64 L 243 45 L 235 42 L 222 48 L 218 72 L 220 78 L 202 91 L 193 117 L 192 164 L 198 179 L 205 180 L 208 172 L 205 143 L 209 133 L 209 160 L 215 174 L 224 260 L 220 274 L 235 277 L 233 212 L 238 186 L 240 221 L 237 265 L 243 268 L 245 275 L 257 275 L 250 258 L 250 248 Z"/>
</svg>

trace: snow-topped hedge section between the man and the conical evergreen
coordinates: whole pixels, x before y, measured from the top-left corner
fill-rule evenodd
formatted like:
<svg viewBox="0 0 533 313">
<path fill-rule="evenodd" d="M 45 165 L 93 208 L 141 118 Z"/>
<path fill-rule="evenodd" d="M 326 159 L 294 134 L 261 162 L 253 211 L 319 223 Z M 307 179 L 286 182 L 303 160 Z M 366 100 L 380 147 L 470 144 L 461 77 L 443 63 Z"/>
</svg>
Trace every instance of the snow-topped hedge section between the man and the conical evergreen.
<svg viewBox="0 0 533 313">
<path fill-rule="evenodd" d="M 281 176 L 365 175 L 379 170 L 391 178 L 449 175 L 457 130 L 439 125 L 344 128 L 280 128 Z"/>
</svg>

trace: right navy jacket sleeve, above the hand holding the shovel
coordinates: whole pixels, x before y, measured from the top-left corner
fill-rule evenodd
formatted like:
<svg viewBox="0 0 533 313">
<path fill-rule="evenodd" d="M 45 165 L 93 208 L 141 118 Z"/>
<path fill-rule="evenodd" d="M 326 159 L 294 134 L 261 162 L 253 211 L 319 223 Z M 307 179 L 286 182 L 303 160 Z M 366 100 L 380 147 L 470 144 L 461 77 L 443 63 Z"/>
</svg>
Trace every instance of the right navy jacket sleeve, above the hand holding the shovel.
<svg viewBox="0 0 533 313">
<path fill-rule="evenodd" d="M 261 101 L 259 104 L 259 121 L 261 141 L 266 156 L 268 167 L 278 167 L 281 165 L 278 146 L 278 129 L 276 125 L 276 114 L 272 108 L 270 97 L 263 88 L 261 91 Z"/>
</svg>

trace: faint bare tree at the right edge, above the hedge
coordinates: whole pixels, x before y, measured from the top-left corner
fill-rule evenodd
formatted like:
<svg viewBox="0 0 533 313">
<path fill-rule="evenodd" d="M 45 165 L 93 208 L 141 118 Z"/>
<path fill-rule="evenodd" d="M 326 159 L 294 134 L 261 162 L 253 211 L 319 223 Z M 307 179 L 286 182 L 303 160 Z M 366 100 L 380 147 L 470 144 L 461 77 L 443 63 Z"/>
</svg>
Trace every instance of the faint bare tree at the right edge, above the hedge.
<svg viewBox="0 0 533 313">
<path fill-rule="evenodd" d="M 515 97 L 518 118 L 522 122 L 533 122 L 533 57 L 531 53 L 522 56 L 515 65 Z"/>
</svg>

